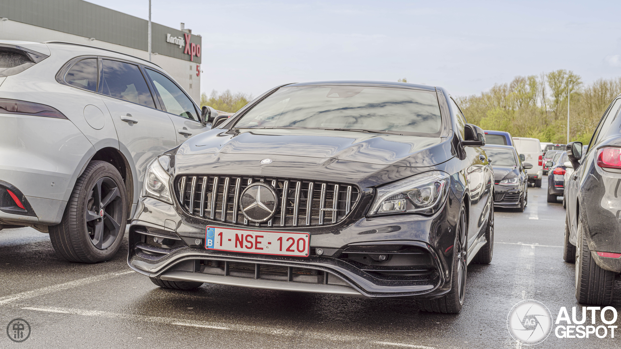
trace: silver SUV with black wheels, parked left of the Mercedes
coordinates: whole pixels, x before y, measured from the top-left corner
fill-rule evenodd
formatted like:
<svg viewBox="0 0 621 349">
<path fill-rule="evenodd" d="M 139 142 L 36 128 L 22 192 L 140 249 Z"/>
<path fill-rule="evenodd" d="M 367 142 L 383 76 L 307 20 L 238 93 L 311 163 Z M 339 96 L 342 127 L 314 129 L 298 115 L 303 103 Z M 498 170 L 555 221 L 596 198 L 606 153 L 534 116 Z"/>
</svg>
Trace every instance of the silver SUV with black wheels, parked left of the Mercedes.
<svg viewBox="0 0 621 349">
<path fill-rule="evenodd" d="M 111 258 L 147 166 L 215 117 L 149 61 L 0 40 L 0 229 L 49 232 L 73 262 Z"/>
</svg>

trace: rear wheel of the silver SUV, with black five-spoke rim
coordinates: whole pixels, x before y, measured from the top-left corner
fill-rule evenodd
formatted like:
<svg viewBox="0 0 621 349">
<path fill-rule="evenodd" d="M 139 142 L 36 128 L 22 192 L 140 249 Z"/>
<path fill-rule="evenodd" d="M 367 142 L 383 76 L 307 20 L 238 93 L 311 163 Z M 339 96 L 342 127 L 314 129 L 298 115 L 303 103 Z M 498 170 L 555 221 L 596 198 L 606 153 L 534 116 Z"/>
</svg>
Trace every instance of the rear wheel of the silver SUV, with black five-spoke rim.
<svg viewBox="0 0 621 349">
<path fill-rule="evenodd" d="M 97 263 L 116 255 L 125 235 L 127 191 L 119 171 L 91 161 L 76 180 L 59 224 L 50 226 L 58 257 Z"/>
</svg>

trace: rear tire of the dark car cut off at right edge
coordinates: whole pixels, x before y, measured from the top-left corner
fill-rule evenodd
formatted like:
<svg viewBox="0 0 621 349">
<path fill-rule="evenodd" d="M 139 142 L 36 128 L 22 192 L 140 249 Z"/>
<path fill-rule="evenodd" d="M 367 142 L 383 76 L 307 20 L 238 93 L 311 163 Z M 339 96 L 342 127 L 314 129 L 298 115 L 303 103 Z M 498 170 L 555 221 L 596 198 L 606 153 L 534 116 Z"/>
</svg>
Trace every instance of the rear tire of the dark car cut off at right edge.
<svg viewBox="0 0 621 349">
<path fill-rule="evenodd" d="M 576 299 L 582 304 L 607 306 L 612 302 L 615 273 L 595 263 L 589 244 L 578 219 L 578 248 L 576 249 Z"/>
</svg>

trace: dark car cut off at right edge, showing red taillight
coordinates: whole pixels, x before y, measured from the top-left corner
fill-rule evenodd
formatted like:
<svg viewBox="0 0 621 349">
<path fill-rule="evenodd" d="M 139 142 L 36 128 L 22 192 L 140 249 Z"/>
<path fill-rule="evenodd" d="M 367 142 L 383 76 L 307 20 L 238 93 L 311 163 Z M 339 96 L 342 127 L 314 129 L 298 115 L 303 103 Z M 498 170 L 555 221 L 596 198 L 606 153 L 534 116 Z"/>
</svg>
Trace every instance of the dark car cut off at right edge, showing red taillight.
<svg viewBox="0 0 621 349">
<path fill-rule="evenodd" d="M 576 262 L 579 303 L 610 304 L 621 273 L 621 95 L 610 104 L 582 154 L 582 143 L 567 144 L 574 172 L 565 183 L 563 259 Z"/>
</svg>

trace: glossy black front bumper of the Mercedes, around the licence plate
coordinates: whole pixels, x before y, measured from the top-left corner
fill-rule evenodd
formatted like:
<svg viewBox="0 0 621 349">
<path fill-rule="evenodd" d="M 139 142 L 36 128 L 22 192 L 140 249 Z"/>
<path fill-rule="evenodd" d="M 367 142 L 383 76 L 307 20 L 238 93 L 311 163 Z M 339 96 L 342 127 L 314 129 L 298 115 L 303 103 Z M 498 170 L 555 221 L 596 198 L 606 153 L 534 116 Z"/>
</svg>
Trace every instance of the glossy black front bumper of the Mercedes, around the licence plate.
<svg viewBox="0 0 621 349">
<path fill-rule="evenodd" d="M 367 298 L 436 298 L 448 292 L 451 285 L 451 247 L 456 229 L 449 229 L 450 201 L 430 217 L 362 218 L 337 224 L 328 233 L 311 232 L 311 256 L 297 258 L 207 250 L 204 248 L 205 226 L 228 224 L 206 220 L 202 225 L 189 223 L 173 206 L 141 198 L 130 226 L 127 262 L 135 271 L 162 280 Z M 453 205 L 458 204 L 452 201 Z M 312 231 L 312 227 L 307 230 Z M 169 241 L 175 240 L 175 244 L 171 249 L 158 250 L 152 243 L 148 245 L 153 236 L 168 237 Z M 384 275 L 343 258 L 347 256 L 343 251 L 348 246 L 364 244 L 399 244 L 420 249 L 428 254 L 432 268 L 425 275 Z M 315 254 L 319 247 L 324 255 Z"/>
</svg>

